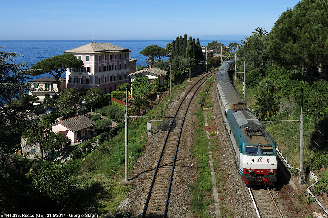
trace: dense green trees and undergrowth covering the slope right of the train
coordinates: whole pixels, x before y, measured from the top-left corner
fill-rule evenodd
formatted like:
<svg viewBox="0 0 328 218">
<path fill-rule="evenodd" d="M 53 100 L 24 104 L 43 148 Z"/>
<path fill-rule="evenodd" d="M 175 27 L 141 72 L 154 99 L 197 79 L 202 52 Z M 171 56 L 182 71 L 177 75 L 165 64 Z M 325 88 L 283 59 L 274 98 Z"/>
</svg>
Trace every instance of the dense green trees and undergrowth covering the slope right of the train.
<svg viewBox="0 0 328 218">
<path fill-rule="evenodd" d="M 326 72 L 328 55 L 322 46 L 326 46 L 328 37 L 315 32 L 318 27 L 322 27 L 322 32 L 328 28 L 326 6 L 325 1 L 303 0 L 293 10 L 283 12 L 270 33 L 257 28 L 236 51 L 240 58 L 237 71 L 243 71 L 245 61 L 246 100 L 259 117 L 298 120 L 300 88 L 303 88 L 304 166 L 307 169 L 327 166 L 324 164 L 327 155 L 323 153 L 328 150 L 325 138 L 328 82 L 314 77 L 318 69 L 323 76 L 322 72 Z M 241 79 L 242 74 L 237 77 Z M 237 84 L 237 88 L 241 86 Z M 297 167 L 299 124 L 274 122 L 267 129 Z"/>
</svg>

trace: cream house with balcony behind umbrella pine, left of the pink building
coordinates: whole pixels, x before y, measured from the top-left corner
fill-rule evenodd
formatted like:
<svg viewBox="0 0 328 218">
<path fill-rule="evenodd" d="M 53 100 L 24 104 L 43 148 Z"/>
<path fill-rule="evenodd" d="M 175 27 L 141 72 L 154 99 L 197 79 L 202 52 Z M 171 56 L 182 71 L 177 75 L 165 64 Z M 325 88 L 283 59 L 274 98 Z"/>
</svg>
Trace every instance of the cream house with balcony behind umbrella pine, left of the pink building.
<svg viewBox="0 0 328 218">
<path fill-rule="evenodd" d="M 53 77 L 38 78 L 29 83 L 31 84 L 29 95 L 36 95 L 40 101 L 44 98 L 56 98 L 58 94 L 57 84 Z M 60 90 L 63 91 L 66 88 L 66 78 L 59 78 L 59 84 Z"/>
</svg>

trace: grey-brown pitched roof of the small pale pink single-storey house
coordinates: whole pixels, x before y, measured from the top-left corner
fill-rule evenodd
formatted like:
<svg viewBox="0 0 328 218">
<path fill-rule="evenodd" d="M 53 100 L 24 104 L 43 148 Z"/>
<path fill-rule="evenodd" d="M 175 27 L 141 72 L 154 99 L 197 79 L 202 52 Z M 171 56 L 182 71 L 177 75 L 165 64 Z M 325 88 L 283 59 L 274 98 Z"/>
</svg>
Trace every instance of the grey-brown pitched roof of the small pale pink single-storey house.
<svg viewBox="0 0 328 218">
<path fill-rule="evenodd" d="M 76 131 L 85 129 L 87 127 L 94 126 L 95 122 L 93 122 L 91 119 L 87 118 L 84 115 L 79 115 L 76 117 L 60 120 L 56 123 L 52 123 L 50 126 L 54 126 L 57 123 L 62 124 L 63 126 L 65 126 L 67 129 L 71 130 L 72 132 L 76 132 Z"/>
</svg>

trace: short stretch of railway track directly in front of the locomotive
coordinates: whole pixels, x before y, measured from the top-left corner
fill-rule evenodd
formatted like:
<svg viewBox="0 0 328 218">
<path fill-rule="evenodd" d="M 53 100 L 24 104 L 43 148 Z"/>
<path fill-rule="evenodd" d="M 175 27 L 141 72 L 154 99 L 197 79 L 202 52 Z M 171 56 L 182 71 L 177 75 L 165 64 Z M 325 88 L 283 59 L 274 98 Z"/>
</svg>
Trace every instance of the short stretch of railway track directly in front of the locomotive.
<svg viewBox="0 0 328 218">
<path fill-rule="evenodd" d="M 281 205 L 275 200 L 275 196 L 278 195 L 275 190 L 270 191 L 269 188 L 260 188 L 257 186 L 248 186 L 248 190 L 251 194 L 257 217 L 284 218 L 284 212 L 281 210 Z"/>
</svg>

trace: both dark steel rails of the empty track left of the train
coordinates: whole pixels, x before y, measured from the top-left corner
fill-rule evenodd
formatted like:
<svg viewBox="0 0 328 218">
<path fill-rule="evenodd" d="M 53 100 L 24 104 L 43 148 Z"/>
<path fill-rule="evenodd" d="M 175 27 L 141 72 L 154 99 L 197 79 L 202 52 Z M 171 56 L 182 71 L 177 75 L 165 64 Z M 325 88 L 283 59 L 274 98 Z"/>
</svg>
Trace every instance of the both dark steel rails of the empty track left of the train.
<svg viewBox="0 0 328 218">
<path fill-rule="evenodd" d="M 210 71 L 210 72 L 209 72 L 208 74 L 206 74 L 204 77 L 202 77 L 201 79 L 199 79 L 199 81 L 203 80 L 205 77 L 207 77 L 207 76 L 209 76 L 209 75 L 210 75 L 209 77 L 213 76 L 216 72 L 217 72 L 217 69 L 215 69 L 215 70 L 213 70 L 213 71 Z M 211 74 L 211 73 L 213 73 L 213 74 Z M 199 82 L 199 81 L 198 81 L 198 82 Z M 188 92 L 186 93 L 186 95 L 184 96 L 184 98 L 181 100 L 181 102 L 180 102 L 180 104 L 179 104 L 179 106 L 178 106 L 178 109 L 176 110 L 176 112 L 175 112 L 175 114 L 174 114 L 174 118 L 172 119 L 171 125 L 170 125 L 169 130 L 168 130 L 168 134 L 167 134 L 167 136 L 166 136 L 166 138 L 165 138 L 165 140 L 164 140 L 164 144 L 163 144 L 163 147 L 162 147 L 161 153 L 160 153 L 159 158 L 158 158 L 158 162 L 157 162 L 157 165 L 156 165 L 156 168 L 155 168 L 155 172 L 154 172 L 154 176 L 153 176 L 153 179 L 152 179 L 152 182 L 151 182 L 151 185 L 150 185 L 149 191 L 148 191 L 148 195 L 147 195 L 147 198 L 146 198 L 146 202 L 145 202 L 145 205 L 144 205 L 144 209 L 143 209 L 142 214 L 141 214 L 141 218 L 143 218 L 143 217 L 146 215 L 147 205 L 148 205 L 148 203 L 149 203 L 149 199 L 150 199 L 150 196 L 151 196 L 151 192 L 152 192 L 152 189 L 153 189 L 153 186 L 154 186 L 154 181 L 155 181 L 155 177 L 156 177 L 156 174 L 157 174 L 157 171 L 158 171 L 158 168 L 159 168 L 160 160 L 161 160 L 162 155 L 163 155 L 163 153 L 164 153 L 165 145 L 166 145 L 166 143 L 167 143 L 167 139 L 168 139 L 168 137 L 169 137 L 169 135 L 170 135 L 170 131 L 171 131 L 172 125 L 173 125 L 173 123 L 174 123 L 174 120 L 175 120 L 175 118 L 176 118 L 176 115 L 177 115 L 177 113 L 178 113 L 178 111 L 179 111 L 179 109 L 180 109 L 182 103 L 184 102 L 184 100 L 187 98 L 188 94 L 191 92 L 191 90 L 194 88 L 194 86 L 195 86 L 198 82 L 196 82 L 196 83 L 195 83 L 195 84 L 194 84 L 194 85 L 188 90 Z M 205 82 L 205 81 L 203 81 L 201 84 L 203 84 L 204 82 Z M 200 87 L 200 85 L 199 85 L 199 87 Z M 198 88 L 199 88 L 199 87 L 198 87 Z M 198 88 L 197 88 L 197 90 L 198 90 Z M 196 90 L 196 91 L 197 91 L 197 90 Z M 191 102 L 191 100 L 190 100 L 190 102 Z M 189 102 L 189 105 L 190 105 L 190 102 Z M 188 106 L 189 106 L 189 105 L 188 105 Z M 188 110 L 188 108 L 187 108 L 187 110 Z M 186 110 L 186 113 L 187 113 L 187 110 Z M 185 115 L 186 115 L 186 113 L 185 113 Z M 184 116 L 184 118 L 185 118 L 185 116 Z M 183 122 L 184 122 L 184 120 L 183 120 Z M 181 129 L 180 129 L 180 133 L 179 133 L 179 137 L 178 137 L 177 146 L 178 146 L 178 144 L 179 144 L 179 140 L 180 140 L 180 136 L 181 136 L 181 131 L 182 131 L 182 126 L 183 126 L 183 122 L 182 122 L 182 125 L 181 125 Z M 173 167 L 172 167 L 173 170 L 174 170 L 174 164 L 175 164 L 176 155 L 177 155 L 177 149 L 178 149 L 178 148 L 176 148 L 175 156 L 174 156 L 174 162 L 173 162 Z M 169 189 L 168 189 L 168 194 L 167 194 L 167 199 L 166 199 L 166 204 L 165 204 L 165 209 L 164 209 L 164 215 L 163 215 L 163 217 L 165 217 L 165 215 L 166 215 L 166 210 L 167 210 L 167 205 L 168 205 L 168 196 L 169 196 L 169 193 L 170 193 L 171 182 L 172 182 L 172 178 L 173 178 L 172 176 L 173 176 L 173 172 L 171 172 L 170 184 L 169 184 Z"/>
</svg>

